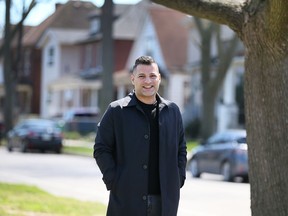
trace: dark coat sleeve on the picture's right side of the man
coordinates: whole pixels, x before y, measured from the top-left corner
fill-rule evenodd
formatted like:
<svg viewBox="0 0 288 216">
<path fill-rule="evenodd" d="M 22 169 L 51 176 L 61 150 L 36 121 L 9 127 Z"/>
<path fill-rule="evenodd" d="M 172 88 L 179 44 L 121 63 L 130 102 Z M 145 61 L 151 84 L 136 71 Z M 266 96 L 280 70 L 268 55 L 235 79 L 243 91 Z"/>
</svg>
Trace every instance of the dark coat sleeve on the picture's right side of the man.
<svg viewBox="0 0 288 216">
<path fill-rule="evenodd" d="M 179 127 L 178 167 L 180 175 L 180 187 L 183 187 L 186 179 L 187 146 L 180 111 L 178 118 L 178 127 Z"/>
</svg>

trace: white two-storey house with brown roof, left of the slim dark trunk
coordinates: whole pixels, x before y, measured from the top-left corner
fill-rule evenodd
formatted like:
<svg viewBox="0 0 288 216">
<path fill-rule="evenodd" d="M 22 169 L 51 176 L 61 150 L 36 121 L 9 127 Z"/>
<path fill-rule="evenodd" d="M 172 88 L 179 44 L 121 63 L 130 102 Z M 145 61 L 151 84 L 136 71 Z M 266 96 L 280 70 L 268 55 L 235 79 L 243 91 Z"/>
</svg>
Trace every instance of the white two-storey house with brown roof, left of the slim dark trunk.
<svg viewBox="0 0 288 216">
<path fill-rule="evenodd" d="M 58 7 L 48 18 L 54 20 L 53 25 L 45 29 L 37 42 L 43 59 L 40 101 L 42 117 L 59 115 L 63 108 L 75 106 L 71 98 L 81 97 L 79 92 L 73 92 L 75 89 L 85 91 L 101 86 L 97 81 L 85 82 L 80 78 L 82 53 L 77 44 L 87 37 L 89 16 L 99 8 L 85 1 L 68 1 Z M 66 91 L 61 91 L 62 84 Z M 53 94 L 52 86 L 58 94 Z"/>
</svg>

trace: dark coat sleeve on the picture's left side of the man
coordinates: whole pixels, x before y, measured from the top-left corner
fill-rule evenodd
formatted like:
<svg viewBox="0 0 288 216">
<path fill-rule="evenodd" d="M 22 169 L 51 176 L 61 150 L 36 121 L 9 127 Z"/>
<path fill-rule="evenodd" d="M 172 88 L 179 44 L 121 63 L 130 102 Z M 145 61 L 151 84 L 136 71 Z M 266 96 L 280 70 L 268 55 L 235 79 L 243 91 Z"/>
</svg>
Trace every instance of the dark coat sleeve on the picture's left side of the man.
<svg viewBox="0 0 288 216">
<path fill-rule="evenodd" d="M 113 109 L 109 106 L 98 124 L 93 154 L 107 190 L 112 189 L 116 176 L 114 134 Z"/>
</svg>

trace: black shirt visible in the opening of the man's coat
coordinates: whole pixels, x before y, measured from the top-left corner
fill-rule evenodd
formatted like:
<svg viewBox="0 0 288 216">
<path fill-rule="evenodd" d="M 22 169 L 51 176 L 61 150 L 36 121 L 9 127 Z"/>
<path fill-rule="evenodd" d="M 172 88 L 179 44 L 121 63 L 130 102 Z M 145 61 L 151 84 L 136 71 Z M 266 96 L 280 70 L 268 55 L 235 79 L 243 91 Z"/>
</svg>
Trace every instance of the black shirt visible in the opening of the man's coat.
<svg viewBox="0 0 288 216">
<path fill-rule="evenodd" d="M 148 193 L 159 195 L 159 123 L 158 123 L 158 103 L 145 104 L 139 101 L 140 106 L 146 114 L 150 125 L 150 146 L 149 146 L 149 169 L 148 169 Z"/>
</svg>

